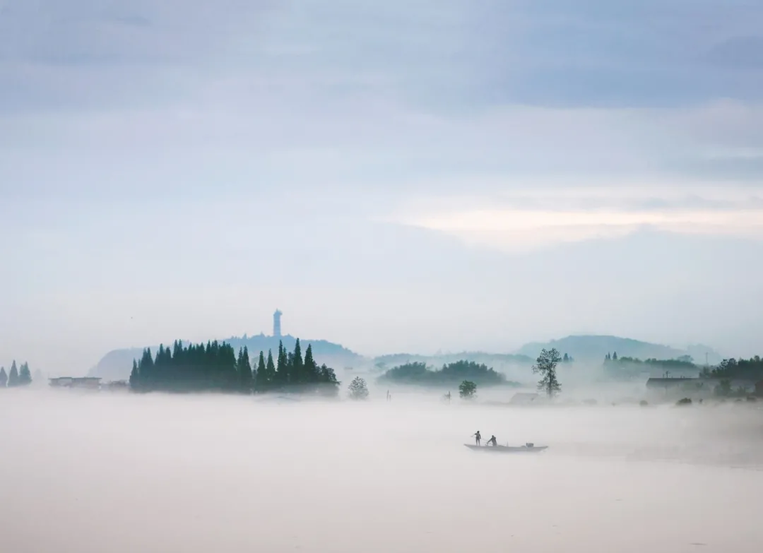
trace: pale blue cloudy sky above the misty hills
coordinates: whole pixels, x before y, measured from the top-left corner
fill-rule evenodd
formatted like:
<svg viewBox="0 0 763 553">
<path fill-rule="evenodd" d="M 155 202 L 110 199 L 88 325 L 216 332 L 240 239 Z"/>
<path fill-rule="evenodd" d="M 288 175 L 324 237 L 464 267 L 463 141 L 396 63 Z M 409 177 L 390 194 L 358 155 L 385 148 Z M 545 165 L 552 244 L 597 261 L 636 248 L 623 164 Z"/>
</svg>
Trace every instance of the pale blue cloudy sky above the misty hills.
<svg viewBox="0 0 763 553">
<path fill-rule="evenodd" d="M 0 365 L 763 336 L 763 5 L 0 0 Z"/>
</svg>

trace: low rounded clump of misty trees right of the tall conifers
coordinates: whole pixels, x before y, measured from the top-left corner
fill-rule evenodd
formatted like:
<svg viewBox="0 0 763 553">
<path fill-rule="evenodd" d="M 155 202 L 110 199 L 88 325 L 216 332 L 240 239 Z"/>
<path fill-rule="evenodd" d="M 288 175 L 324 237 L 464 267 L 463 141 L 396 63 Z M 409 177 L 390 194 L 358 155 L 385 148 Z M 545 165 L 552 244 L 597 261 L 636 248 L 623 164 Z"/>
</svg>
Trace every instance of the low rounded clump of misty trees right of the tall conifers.
<svg viewBox="0 0 763 553">
<path fill-rule="evenodd" d="M 379 377 L 380 381 L 395 384 L 417 384 L 420 386 L 456 385 L 468 380 L 479 386 L 497 386 L 508 384 L 518 386 L 516 382 L 506 380 L 504 375 L 473 361 L 457 361 L 443 365 L 443 368 L 433 371 L 426 363 L 413 362 L 391 368 Z"/>
</svg>

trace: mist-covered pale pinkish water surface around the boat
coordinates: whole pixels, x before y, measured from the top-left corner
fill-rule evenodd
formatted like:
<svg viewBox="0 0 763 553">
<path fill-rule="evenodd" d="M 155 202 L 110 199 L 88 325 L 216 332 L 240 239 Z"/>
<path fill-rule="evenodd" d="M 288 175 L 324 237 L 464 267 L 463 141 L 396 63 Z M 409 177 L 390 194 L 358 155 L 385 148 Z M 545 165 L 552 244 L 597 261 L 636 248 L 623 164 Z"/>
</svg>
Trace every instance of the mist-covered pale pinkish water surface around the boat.
<svg viewBox="0 0 763 553">
<path fill-rule="evenodd" d="M 755 407 L 0 394 L 0 551 L 761 551 Z M 499 442 L 551 445 L 486 455 Z"/>
</svg>

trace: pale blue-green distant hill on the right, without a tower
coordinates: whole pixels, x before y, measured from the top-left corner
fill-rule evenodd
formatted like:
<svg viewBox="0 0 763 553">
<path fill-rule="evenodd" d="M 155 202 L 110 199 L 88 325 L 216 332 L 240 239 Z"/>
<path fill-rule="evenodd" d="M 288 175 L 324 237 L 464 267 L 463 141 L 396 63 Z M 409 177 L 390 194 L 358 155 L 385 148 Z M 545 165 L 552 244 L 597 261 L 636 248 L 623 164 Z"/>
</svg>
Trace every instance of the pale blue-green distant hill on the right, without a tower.
<svg viewBox="0 0 763 553">
<path fill-rule="evenodd" d="M 536 358 L 541 349 L 556 348 L 562 355 L 568 353 L 576 361 L 601 362 L 607 353 L 617 352 L 620 357 L 638 359 L 675 359 L 683 355 L 691 355 L 694 361 L 705 362 L 705 352 L 710 364 L 720 361 L 720 355 L 706 346 L 691 346 L 689 349 L 676 349 L 662 344 L 641 342 L 618 336 L 567 336 L 550 342 L 533 342 L 522 346 L 517 354 Z M 701 355 L 701 357 L 700 357 Z"/>
</svg>

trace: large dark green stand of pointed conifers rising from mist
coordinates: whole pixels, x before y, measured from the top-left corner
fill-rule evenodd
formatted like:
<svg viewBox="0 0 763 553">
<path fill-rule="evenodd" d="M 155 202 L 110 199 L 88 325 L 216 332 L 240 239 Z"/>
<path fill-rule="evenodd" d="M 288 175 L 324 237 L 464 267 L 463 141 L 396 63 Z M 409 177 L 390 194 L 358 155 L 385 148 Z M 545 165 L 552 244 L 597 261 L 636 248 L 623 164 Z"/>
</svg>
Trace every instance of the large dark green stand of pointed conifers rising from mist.
<svg viewBox="0 0 763 553">
<path fill-rule="evenodd" d="M 311 345 L 302 356 L 299 339 L 293 352 L 278 342 L 278 355 L 259 352 L 250 359 L 246 346 L 238 354 L 227 342 L 207 342 L 183 346 L 176 340 L 172 348 L 159 346 L 156 355 L 146 348 L 133 361 L 130 389 L 137 392 L 169 391 L 228 393 L 264 393 L 298 391 L 336 396 L 340 382 L 333 368 L 317 365 Z"/>
</svg>

